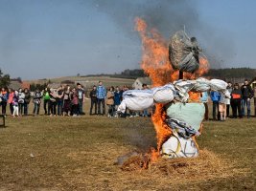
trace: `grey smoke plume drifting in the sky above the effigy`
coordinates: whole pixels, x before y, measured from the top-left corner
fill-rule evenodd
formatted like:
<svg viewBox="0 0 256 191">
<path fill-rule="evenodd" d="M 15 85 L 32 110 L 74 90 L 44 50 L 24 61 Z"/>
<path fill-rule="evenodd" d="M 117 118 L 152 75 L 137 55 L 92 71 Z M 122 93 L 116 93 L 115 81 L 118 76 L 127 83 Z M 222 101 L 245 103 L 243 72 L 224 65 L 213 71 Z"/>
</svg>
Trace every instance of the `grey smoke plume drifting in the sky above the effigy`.
<svg viewBox="0 0 256 191">
<path fill-rule="evenodd" d="M 176 31 L 184 30 L 190 36 L 197 36 L 199 44 L 207 55 L 211 68 L 221 68 L 224 61 L 233 56 L 233 41 L 230 33 L 214 30 L 214 27 L 202 23 L 198 13 L 198 1 L 188 0 L 144 0 L 116 1 L 94 0 L 93 6 L 106 16 L 111 17 L 128 36 L 136 39 L 136 33 L 131 26 L 136 16 L 146 20 L 150 28 L 155 28 L 162 35 L 169 37 Z"/>
</svg>

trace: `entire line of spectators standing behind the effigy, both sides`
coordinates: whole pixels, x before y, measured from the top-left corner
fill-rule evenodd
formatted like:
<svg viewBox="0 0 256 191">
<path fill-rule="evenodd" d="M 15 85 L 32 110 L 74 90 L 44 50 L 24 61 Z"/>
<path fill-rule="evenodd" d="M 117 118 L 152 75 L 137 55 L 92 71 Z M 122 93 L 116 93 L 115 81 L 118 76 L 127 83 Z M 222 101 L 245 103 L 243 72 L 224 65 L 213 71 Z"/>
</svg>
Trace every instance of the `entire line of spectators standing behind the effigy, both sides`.
<svg viewBox="0 0 256 191">
<path fill-rule="evenodd" d="M 148 89 L 147 84 L 143 84 L 142 89 Z M 107 117 L 151 117 L 154 108 L 140 112 L 128 111 L 124 115 L 117 113 L 117 108 L 121 104 L 123 93 L 128 90 L 128 86 L 110 87 L 106 90 L 102 81 L 94 85 L 89 92 L 90 109 L 89 115 L 100 115 Z M 208 99 L 209 96 L 213 103 L 213 119 L 225 120 L 226 117 L 250 117 L 250 102 L 254 98 L 256 103 L 256 87 L 254 90 L 248 85 L 248 80 L 244 80 L 244 84 L 240 87 L 238 83 L 234 85 L 228 82 L 227 90 L 231 97 L 226 97 L 219 92 L 204 92 L 201 94 L 200 100 L 205 105 L 205 119 L 208 117 Z M 80 83 L 76 87 L 69 85 L 60 85 L 57 90 L 45 88 L 43 91 L 35 90 L 32 95 L 28 89 L 12 90 L 2 88 L 0 92 L 0 105 L 2 107 L 2 115 L 7 115 L 7 106 L 10 107 L 12 117 L 21 117 L 29 115 L 29 105 L 34 105 L 32 115 L 40 114 L 40 107 L 43 106 L 44 115 L 56 116 L 82 116 L 83 103 L 85 101 L 85 91 Z M 106 106 L 106 107 L 105 107 Z M 246 107 L 246 112 L 245 112 Z M 232 116 L 231 116 L 231 110 Z M 256 107 L 255 114 L 256 114 Z"/>
</svg>

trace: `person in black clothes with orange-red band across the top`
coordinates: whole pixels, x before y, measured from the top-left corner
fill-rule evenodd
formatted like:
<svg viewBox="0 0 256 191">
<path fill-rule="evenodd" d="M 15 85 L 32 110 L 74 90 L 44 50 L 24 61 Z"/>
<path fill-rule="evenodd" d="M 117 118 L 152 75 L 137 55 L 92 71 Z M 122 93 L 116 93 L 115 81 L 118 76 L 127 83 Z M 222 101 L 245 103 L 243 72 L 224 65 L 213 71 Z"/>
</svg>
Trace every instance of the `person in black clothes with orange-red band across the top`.
<svg viewBox="0 0 256 191">
<path fill-rule="evenodd" d="M 231 107 L 233 111 L 233 117 L 237 118 L 238 116 L 242 118 L 242 111 L 241 111 L 241 98 L 242 92 L 239 89 L 239 84 L 235 83 L 234 90 L 231 92 Z"/>
</svg>

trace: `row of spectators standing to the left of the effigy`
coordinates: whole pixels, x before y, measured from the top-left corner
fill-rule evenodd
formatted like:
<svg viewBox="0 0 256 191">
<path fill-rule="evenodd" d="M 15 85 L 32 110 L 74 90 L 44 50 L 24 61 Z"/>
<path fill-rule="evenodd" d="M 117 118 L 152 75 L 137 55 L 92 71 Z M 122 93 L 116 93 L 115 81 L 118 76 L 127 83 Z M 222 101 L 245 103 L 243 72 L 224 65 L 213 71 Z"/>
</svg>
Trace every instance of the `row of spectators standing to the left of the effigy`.
<svg viewBox="0 0 256 191">
<path fill-rule="evenodd" d="M 117 117 L 116 110 L 122 101 L 124 91 L 128 90 L 128 86 L 124 86 L 122 90 L 117 87 L 105 89 L 102 81 L 98 86 L 94 85 L 90 91 L 91 106 L 89 115 L 106 115 L 107 117 Z M 7 107 L 10 108 L 12 117 L 21 117 L 29 115 L 29 105 L 33 103 L 33 116 L 40 114 L 40 108 L 43 106 L 44 115 L 56 116 L 82 116 L 83 103 L 85 101 L 85 91 L 81 84 L 71 88 L 69 85 L 60 85 L 57 90 L 45 88 L 43 91 L 35 90 L 31 94 L 28 89 L 12 90 L 12 88 L 2 88 L 0 92 L 0 106 L 2 107 L 2 115 L 7 115 Z M 107 111 L 105 111 L 105 105 Z"/>
</svg>

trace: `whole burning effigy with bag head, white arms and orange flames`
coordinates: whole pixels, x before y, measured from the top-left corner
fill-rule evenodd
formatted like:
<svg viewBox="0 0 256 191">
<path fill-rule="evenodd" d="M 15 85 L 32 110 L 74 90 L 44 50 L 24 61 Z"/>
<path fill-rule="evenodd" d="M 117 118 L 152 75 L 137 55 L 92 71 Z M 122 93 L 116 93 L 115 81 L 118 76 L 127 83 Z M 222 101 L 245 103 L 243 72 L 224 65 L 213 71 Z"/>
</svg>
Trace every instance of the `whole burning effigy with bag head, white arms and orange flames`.
<svg viewBox="0 0 256 191">
<path fill-rule="evenodd" d="M 141 18 L 136 18 L 135 23 L 142 39 L 141 67 L 151 77 L 153 87 L 126 91 L 118 111 L 141 111 L 155 105 L 151 119 L 157 148 L 151 150 L 151 161 L 198 157 L 196 138 L 201 133 L 205 113 L 199 95 L 219 91 L 229 96 L 227 83 L 200 77 L 209 65 L 205 56 L 200 55 L 195 37 L 176 32 L 168 43 L 155 29 L 149 31 Z"/>
</svg>

